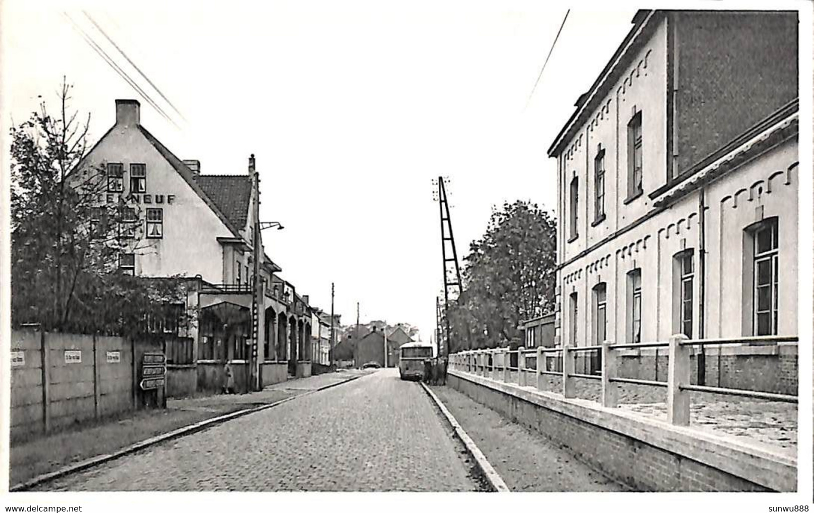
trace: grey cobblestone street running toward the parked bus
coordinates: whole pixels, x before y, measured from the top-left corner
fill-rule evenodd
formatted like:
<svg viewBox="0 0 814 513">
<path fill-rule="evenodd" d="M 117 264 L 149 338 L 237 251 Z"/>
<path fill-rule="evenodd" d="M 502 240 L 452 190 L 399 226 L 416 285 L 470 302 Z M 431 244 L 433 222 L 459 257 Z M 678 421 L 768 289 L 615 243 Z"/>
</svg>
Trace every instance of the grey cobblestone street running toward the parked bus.
<svg viewBox="0 0 814 513">
<path fill-rule="evenodd" d="M 363 376 L 33 491 L 474 491 L 418 383 Z"/>
</svg>

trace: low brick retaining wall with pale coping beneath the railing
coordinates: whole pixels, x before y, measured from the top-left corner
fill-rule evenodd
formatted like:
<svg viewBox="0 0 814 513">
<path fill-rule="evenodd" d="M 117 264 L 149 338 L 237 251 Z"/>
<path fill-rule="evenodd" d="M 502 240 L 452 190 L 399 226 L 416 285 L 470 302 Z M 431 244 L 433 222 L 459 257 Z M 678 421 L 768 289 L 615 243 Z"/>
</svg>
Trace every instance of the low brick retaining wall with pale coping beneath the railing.
<svg viewBox="0 0 814 513">
<path fill-rule="evenodd" d="M 599 412 L 572 403 L 547 408 L 525 399 L 525 396 L 532 396 L 530 392 L 519 390 L 516 395 L 515 392 L 506 393 L 503 389 L 516 387 L 484 385 L 477 377 L 465 378 L 456 372 L 449 373 L 447 384 L 510 420 L 536 430 L 565 447 L 575 458 L 632 489 L 789 491 L 786 488 L 796 488 L 796 468 L 790 467 L 789 463 L 778 465 L 769 459 L 760 461 L 755 454 L 738 454 L 732 447 L 716 449 L 716 442 L 702 440 L 700 435 L 698 440 L 694 440 L 685 433 L 667 433 L 666 429 L 664 433 L 659 433 L 658 427 L 646 421 L 616 420 L 611 412 Z M 562 410 L 558 411 L 560 406 Z M 625 423 L 631 425 L 625 428 Z M 619 429 L 608 428 L 609 425 L 618 425 Z M 630 433 L 649 434 L 642 434 L 640 438 Z M 672 450 L 666 446 L 672 447 Z M 695 459 L 688 456 L 694 453 L 701 457 Z M 729 470 L 702 462 L 709 454 L 716 454 L 714 458 L 720 456 L 724 461 L 721 466 L 728 466 Z M 773 472 L 772 477 L 768 478 L 772 479 L 771 482 L 766 480 L 766 472 Z M 776 477 L 778 479 L 774 480 Z"/>
</svg>

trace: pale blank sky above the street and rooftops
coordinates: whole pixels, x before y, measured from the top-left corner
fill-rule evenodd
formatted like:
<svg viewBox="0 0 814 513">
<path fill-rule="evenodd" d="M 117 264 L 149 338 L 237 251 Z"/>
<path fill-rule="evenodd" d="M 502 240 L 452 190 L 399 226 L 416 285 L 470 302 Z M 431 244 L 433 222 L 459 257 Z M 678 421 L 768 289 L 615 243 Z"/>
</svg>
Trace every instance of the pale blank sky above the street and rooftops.
<svg viewBox="0 0 814 513">
<path fill-rule="evenodd" d="M 135 98 L 142 125 L 204 174 L 247 172 L 255 154 L 261 219 L 285 226 L 264 233 L 282 277 L 325 311 L 334 282 L 344 324 L 360 302 L 362 323 L 414 324 L 428 341 L 443 298 L 432 180 L 449 177 L 459 259 L 493 206 L 554 211 L 546 150 L 636 12 L 571 10 L 529 102 L 567 10 L 541 3 L 83 4 L 177 109 L 102 45 L 172 123 L 81 37 L 72 23 L 104 41 L 77 3 L 6 0 L 2 122 L 56 106 L 66 76 L 91 143 L 112 126 L 114 100 Z"/>
</svg>

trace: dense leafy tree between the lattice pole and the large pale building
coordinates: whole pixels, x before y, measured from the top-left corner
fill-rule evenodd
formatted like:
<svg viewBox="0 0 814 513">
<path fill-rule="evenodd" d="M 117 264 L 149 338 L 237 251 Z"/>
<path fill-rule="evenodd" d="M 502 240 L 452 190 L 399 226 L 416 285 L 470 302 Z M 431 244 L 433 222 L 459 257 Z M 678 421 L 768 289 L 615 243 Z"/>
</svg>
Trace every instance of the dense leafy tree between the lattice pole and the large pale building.
<svg viewBox="0 0 814 513">
<path fill-rule="evenodd" d="M 464 259 L 463 290 L 449 302 L 450 352 L 507 346 L 519 323 L 554 311 L 556 223 L 536 204 L 492 209 Z"/>
</svg>

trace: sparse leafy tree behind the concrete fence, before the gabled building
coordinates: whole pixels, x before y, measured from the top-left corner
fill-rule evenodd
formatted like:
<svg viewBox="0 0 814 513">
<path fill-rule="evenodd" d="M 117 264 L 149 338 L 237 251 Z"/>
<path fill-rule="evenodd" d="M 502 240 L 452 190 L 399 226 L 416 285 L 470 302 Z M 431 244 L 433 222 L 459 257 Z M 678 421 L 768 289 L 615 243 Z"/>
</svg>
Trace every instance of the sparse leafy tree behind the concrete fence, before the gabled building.
<svg viewBox="0 0 814 513">
<path fill-rule="evenodd" d="M 80 333 L 155 328 L 168 309 L 178 310 L 169 304 L 186 302 L 183 280 L 147 280 L 120 270 L 122 254 L 153 245 L 142 238 L 138 204 L 108 193 L 108 180 L 118 189 L 123 177 L 83 161 L 90 115 L 81 122 L 70 111 L 71 89 L 63 81 L 57 115 L 42 102 L 40 111 L 11 128 L 12 324 Z M 180 310 L 186 313 L 169 322 L 183 327 L 189 313 Z"/>
</svg>

